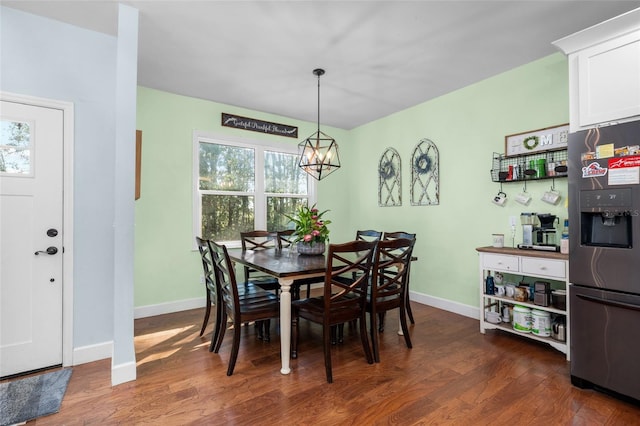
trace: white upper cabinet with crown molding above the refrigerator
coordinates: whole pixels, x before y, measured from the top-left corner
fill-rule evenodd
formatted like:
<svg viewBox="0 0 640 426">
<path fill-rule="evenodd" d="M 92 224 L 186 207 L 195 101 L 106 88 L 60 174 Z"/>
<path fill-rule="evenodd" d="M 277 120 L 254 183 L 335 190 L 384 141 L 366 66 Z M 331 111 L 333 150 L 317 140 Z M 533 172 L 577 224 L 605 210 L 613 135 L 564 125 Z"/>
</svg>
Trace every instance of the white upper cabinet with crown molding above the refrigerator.
<svg viewBox="0 0 640 426">
<path fill-rule="evenodd" d="M 569 57 L 571 132 L 640 119 L 640 9 L 553 44 Z"/>
</svg>

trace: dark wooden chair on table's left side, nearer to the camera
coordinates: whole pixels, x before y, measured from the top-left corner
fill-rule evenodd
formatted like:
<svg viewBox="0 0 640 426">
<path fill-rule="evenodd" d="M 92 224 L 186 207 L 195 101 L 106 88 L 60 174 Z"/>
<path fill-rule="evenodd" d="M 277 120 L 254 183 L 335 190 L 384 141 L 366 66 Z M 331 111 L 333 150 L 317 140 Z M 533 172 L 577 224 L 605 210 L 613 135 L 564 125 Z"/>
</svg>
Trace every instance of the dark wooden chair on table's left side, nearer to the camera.
<svg viewBox="0 0 640 426">
<path fill-rule="evenodd" d="M 231 346 L 231 356 L 229 357 L 229 367 L 227 376 L 233 374 L 238 352 L 240 350 L 240 334 L 242 324 L 255 321 L 265 323 L 265 330 L 269 330 L 268 323 L 271 318 L 278 318 L 280 315 L 280 302 L 275 294 L 260 288 L 252 289 L 241 294 L 238 289 L 244 287 L 238 285 L 236 274 L 227 252 L 227 247 L 209 241 L 209 247 L 213 259 L 215 271 L 216 290 L 219 294 L 221 304 L 221 322 L 227 323 L 230 319 L 233 325 L 233 343 Z M 248 284 L 252 286 L 252 284 Z M 224 339 L 226 326 L 220 328 L 218 336 L 211 338 L 209 352 L 218 353 Z M 264 340 L 269 340 L 265 338 Z"/>
</svg>

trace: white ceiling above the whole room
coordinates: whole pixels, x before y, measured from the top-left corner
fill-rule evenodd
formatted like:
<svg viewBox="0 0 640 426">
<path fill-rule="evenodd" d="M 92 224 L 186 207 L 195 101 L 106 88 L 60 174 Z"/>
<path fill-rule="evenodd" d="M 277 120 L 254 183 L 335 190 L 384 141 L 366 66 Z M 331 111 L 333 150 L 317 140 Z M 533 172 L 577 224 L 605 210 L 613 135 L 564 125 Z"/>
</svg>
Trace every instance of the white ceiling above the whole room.
<svg viewBox="0 0 640 426">
<path fill-rule="evenodd" d="M 138 83 L 351 129 L 557 50 L 640 1 L 123 1 Z M 116 2 L 4 1 L 115 35 Z M 258 117 L 254 117 L 258 118 Z M 288 123 L 283 123 L 288 124 Z"/>
</svg>

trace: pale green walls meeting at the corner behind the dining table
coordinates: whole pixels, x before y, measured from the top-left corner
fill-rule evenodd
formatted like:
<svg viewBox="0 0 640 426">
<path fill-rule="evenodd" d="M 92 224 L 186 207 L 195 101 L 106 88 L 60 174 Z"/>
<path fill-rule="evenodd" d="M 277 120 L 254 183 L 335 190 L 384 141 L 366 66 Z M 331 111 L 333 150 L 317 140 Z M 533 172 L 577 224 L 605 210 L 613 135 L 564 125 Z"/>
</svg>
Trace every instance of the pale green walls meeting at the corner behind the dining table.
<svg viewBox="0 0 640 426">
<path fill-rule="evenodd" d="M 417 88 L 419 90 L 419 88 Z M 192 133 L 289 142 L 288 138 L 220 127 L 220 113 L 244 115 L 299 127 L 299 139 L 314 123 L 243 110 L 200 99 L 139 88 L 138 129 L 143 131 L 142 188 L 136 202 L 135 306 L 203 297 L 200 264 L 192 236 Z M 499 191 L 489 171 L 493 152 L 504 152 L 505 135 L 569 121 L 567 60 L 557 53 L 351 131 L 322 126 L 340 146 L 342 168 L 319 182 L 318 205 L 330 209 L 331 241 L 357 229 L 417 233 L 412 290 L 477 308 L 478 257 L 491 234 L 511 243 L 509 216 L 522 211 L 566 217 L 566 205 L 539 197 L 551 181 L 530 183 L 533 201 L 514 201 L 519 183 L 505 184 L 505 207 L 490 202 Z M 410 205 L 410 158 L 421 139 L 440 152 L 440 204 Z M 298 141 L 291 140 L 290 143 Z M 378 162 L 387 147 L 402 159 L 400 207 L 378 206 Z M 566 194 L 566 178 L 555 181 Z M 518 222 L 519 223 L 519 222 Z M 519 226 L 516 244 L 521 238 Z"/>
</svg>

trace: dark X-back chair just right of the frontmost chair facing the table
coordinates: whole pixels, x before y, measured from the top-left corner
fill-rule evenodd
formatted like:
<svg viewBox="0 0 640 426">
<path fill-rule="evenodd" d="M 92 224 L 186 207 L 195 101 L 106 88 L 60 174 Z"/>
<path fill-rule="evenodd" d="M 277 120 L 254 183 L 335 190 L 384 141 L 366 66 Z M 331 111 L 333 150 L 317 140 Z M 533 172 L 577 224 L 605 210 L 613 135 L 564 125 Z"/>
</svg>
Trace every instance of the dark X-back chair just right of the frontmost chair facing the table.
<svg viewBox="0 0 640 426">
<path fill-rule="evenodd" d="M 405 343 L 411 348 L 411 337 L 407 326 L 406 292 L 409 282 L 408 273 L 415 240 L 407 238 L 387 239 L 378 242 L 371 277 L 371 288 L 367 297 L 367 312 L 373 358 L 380 362 L 378 319 L 381 314 L 392 309 L 400 310 L 400 326 Z"/>
</svg>

